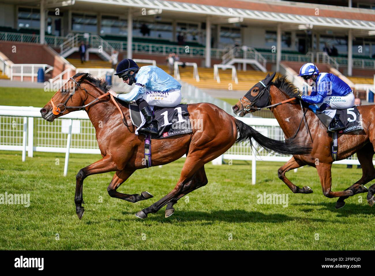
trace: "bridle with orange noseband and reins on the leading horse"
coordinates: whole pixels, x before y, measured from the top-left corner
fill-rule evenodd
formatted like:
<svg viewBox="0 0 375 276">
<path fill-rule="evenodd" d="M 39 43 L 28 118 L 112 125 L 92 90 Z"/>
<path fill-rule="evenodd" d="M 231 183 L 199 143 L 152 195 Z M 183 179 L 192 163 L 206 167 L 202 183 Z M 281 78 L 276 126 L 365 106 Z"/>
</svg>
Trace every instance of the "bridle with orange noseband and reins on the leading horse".
<svg viewBox="0 0 375 276">
<path fill-rule="evenodd" d="M 83 105 L 83 106 L 66 106 L 66 103 L 68 103 L 69 99 L 72 98 L 72 96 L 75 94 L 75 90 L 77 90 L 77 88 L 81 88 L 81 89 L 83 89 L 83 90 L 85 91 L 85 93 L 86 93 L 86 94 L 85 94 L 85 99 L 86 99 L 86 96 L 87 96 L 87 93 L 88 93 L 88 92 L 87 92 L 87 89 L 86 89 L 85 87 L 82 87 L 81 84 L 78 83 L 74 78 L 71 77 L 71 78 L 69 78 L 69 80 L 74 81 L 74 83 L 75 83 L 75 88 L 74 88 L 73 92 L 70 93 L 70 95 L 69 95 L 68 99 L 66 99 L 65 103 L 59 103 L 59 104 L 57 104 L 57 106 L 55 106 L 55 104 L 53 103 L 52 98 L 51 98 L 52 113 L 53 113 L 54 115 L 59 115 L 59 114 L 61 114 L 61 113 L 64 113 L 65 110 L 66 110 L 67 108 L 69 108 L 69 109 L 77 109 L 77 110 L 84 110 L 85 107 L 90 106 L 90 104 L 93 104 L 93 103 L 95 103 L 96 101 L 100 100 L 101 98 L 104 98 L 104 97 L 106 97 L 106 96 L 109 95 L 110 98 L 111 98 L 111 100 L 113 101 L 113 103 L 114 103 L 115 106 L 117 107 L 118 111 L 120 112 L 120 114 L 121 114 L 121 118 L 122 118 L 122 121 L 124 122 L 124 125 L 126 125 L 127 127 L 130 127 L 130 126 L 131 126 L 131 125 L 128 125 L 128 124 L 127 124 L 127 122 L 126 122 L 126 120 L 125 120 L 125 118 L 124 118 L 124 114 L 122 113 L 122 110 L 120 109 L 120 107 L 118 106 L 117 102 L 115 101 L 113 95 L 111 95 L 110 92 L 107 92 L 107 93 L 105 93 L 105 94 L 103 94 L 103 95 L 100 95 L 100 96 L 99 96 L 98 98 L 96 98 L 95 100 L 93 100 L 93 101 L 91 101 L 90 103 L 85 104 L 85 105 Z M 90 83 L 90 82 L 89 82 L 89 83 Z M 94 84 L 92 84 L 92 83 L 90 83 L 90 84 L 91 84 L 92 86 L 98 88 L 98 86 L 96 86 L 96 85 L 94 85 Z M 83 103 L 84 103 L 84 101 L 83 101 Z"/>
</svg>

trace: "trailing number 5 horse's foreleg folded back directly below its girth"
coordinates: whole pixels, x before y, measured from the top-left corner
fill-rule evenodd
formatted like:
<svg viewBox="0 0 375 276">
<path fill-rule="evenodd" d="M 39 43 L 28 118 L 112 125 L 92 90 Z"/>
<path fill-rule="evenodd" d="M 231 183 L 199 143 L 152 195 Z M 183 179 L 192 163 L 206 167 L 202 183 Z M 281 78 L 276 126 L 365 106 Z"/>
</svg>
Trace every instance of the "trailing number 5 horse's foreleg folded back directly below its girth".
<svg viewBox="0 0 375 276">
<path fill-rule="evenodd" d="M 356 195 L 357 193 L 363 193 L 363 190 L 362 190 L 363 186 L 360 186 L 357 189 L 350 189 L 350 190 L 345 190 L 345 191 L 340 191 L 340 192 L 332 192 L 331 190 L 331 185 L 332 185 L 331 167 L 332 167 L 332 163 L 319 163 L 319 165 L 317 165 L 318 175 L 319 175 L 320 182 L 321 182 L 322 189 L 323 189 L 323 195 L 327 196 L 327 198 L 337 198 L 339 196 L 353 196 L 353 195 Z"/>
</svg>

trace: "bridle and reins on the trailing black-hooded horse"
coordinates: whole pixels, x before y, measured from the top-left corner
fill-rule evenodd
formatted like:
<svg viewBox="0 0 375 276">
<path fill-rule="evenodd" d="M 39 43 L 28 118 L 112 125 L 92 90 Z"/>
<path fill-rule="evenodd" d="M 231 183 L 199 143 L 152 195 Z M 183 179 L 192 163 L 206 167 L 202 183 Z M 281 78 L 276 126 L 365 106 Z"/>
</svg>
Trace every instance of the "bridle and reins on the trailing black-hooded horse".
<svg viewBox="0 0 375 276">
<path fill-rule="evenodd" d="M 271 99 L 271 94 L 270 94 L 270 91 L 269 91 L 269 88 L 268 88 L 269 86 L 267 87 L 266 85 L 264 85 L 264 83 L 263 83 L 262 81 L 260 81 L 260 83 L 263 84 L 264 88 L 263 88 L 263 90 L 262 90 L 261 92 L 258 93 L 257 96 L 255 96 L 253 102 L 249 101 L 248 99 L 240 98 L 240 103 L 241 103 L 241 106 L 242 106 L 242 109 L 243 109 L 243 110 L 246 110 L 247 112 L 251 112 L 251 110 L 262 110 L 262 109 L 271 108 L 271 107 L 274 107 L 274 106 L 279 106 L 280 104 L 285 104 L 285 103 L 289 103 L 289 102 L 291 102 L 291 101 L 297 100 L 296 97 L 293 97 L 293 98 L 290 98 L 290 99 L 285 100 L 285 101 L 281 101 L 281 102 L 276 103 L 276 104 L 271 104 L 271 105 L 269 105 L 269 106 L 264 106 L 264 107 L 254 107 L 254 103 L 255 103 L 255 101 L 256 101 L 258 98 L 262 97 L 262 95 L 264 94 L 264 90 L 266 90 L 266 92 L 268 92 L 268 94 L 269 94 L 269 98 Z M 246 101 L 246 102 L 248 102 L 249 104 L 248 104 L 246 107 L 244 107 L 243 104 L 242 104 L 242 101 Z M 271 102 L 271 100 L 270 100 L 269 102 Z M 297 136 L 297 134 L 298 134 L 298 132 L 299 132 L 299 130 L 300 130 L 300 128 L 301 128 L 302 121 L 303 121 L 303 122 L 305 123 L 307 133 L 310 134 L 311 142 L 314 142 L 314 141 L 312 140 L 312 136 L 311 136 L 311 132 L 310 132 L 309 125 L 307 124 L 307 121 L 306 121 L 306 112 L 307 112 L 307 109 L 305 110 L 305 107 L 303 107 L 303 105 L 302 105 L 302 101 L 301 101 L 301 100 L 299 100 L 299 102 L 300 102 L 301 111 L 302 111 L 302 119 L 301 119 L 301 122 L 300 122 L 300 124 L 299 124 L 299 126 L 298 126 L 298 128 L 297 128 L 296 133 L 295 133 L 290 139 L 293 139 L 293 138 L 295 138 L 295 137 Z"/>
</svg>

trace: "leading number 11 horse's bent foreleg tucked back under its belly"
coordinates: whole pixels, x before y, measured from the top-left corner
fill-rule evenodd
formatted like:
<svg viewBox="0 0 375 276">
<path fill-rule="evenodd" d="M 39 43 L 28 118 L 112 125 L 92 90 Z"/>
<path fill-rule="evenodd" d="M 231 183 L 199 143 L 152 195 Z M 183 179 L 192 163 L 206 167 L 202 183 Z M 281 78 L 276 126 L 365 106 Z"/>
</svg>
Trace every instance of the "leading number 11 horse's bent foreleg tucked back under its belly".
<svg viewBox="0 0 375 276">
<path fill-rule="evenodd" d="M 153 195 L 151 195 L 149 192 L 142 192 L 141 195 L 127 195 L 124 193 L 117 192 L 117 188 L 120 187 L 120 185 L 123 184 L 130 177 L 130 175 L 132 175 L 134 171 L 135 170 L 118 170 L 113 176 L 110 185 L 108 185 L 108 195 L 110 195 L 112 198 L 119 198 L 133 203 L 153 198 Z"/>
</svg>

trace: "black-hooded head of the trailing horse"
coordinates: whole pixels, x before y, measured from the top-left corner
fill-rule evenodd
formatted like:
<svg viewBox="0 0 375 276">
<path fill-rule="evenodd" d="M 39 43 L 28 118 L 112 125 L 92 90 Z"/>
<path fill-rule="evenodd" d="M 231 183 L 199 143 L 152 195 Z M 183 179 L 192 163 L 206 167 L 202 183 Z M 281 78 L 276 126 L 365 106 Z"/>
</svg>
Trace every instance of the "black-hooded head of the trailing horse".
<svg viewBox="0 0 375 276">
<path fill-rule="evenodd" d="M 276 72 L 272 75 L 267 74 L 266 78 L 255 84 L 244 97 L 232 107 L 233 112 L 240 117 L 245 116 L 249 112 L 254 112 L 257 108 L 269 105 L 270 93 L 268 87 L 272 83 Z"/>
</svg>

